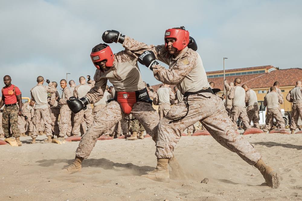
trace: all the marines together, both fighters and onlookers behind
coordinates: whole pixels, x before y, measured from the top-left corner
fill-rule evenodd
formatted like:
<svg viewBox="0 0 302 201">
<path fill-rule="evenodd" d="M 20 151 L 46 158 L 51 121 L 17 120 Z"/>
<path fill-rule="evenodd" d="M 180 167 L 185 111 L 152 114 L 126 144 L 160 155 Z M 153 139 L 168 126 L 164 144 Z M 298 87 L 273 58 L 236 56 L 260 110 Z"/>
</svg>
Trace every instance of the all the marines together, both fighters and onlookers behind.
<svg viewBox="0 0 302 201">
<path fill-rule="evenodd" d="M 105 31 L 102 39 L 105 43 L 96 45 L 90 54 L 97 68 L 93 81 L 90 76 L 87 76 L 86 83 L 85 77 L 80 77 L 80 85 L 75 86 L 75 83 L 70 81 L 69 89 L 66 80 L 62 79 L 60 86 L 63 93 L 60 97 L 56 90 L 56 82 L 46 80 L 48 86 L 43 86 L 44 78 L 37 77 L 38 84 L 31 89 L 31 99 L 35 101 L 33 113 L 25 110 L 33 107 L 32 103 L 22 106 L 20 90 L 7 81 L 11 80 L 9 76 L 4 77 L 6 86 L 3 89 L 10 91 L 9 93 L 2 91 L 0 107 L 5 103 L 3 119 L 12 111 L 15 112 L 15 116 L 26 116 L 26 120 L 32 119 L 31 143 L 35 143 L 41 119 L 44 121 L 47 142 L 51 142 L 54 137 L 63 140 L 65 136 L 82 136 L 74 162 L 64 168 L 62 173 L 72 174 L 82 171 L 82 162 L 89 157 L 97 139 L 108 133 L 113 135 L 112 129 L 116 133 L 124 134 L 124 128 L 128 127 L 128 120 L 133 120 L 137 129 L 133 130 L 128 139 L 143 139 L 143 134 L 138 132 L 142 133 L 144 128 L 156 146 L 156 168 L 142 177 L 169 182 L 168 165 L 174 174 L 182 174 L 182 168 L 173 154 L 174 148 L 182 132 L 187 128 L 188 133 L 193 132 L 191 127 L 199 121 L 218 143 L 257 168 L 269 187 L 278 188 L 280 179 L 277 172 L 266 165 L 262 155 L 235 132 L 238 129 L 236 125 L 238 117 L 243 121 L 245 130 L 251 128 L 251 121 L 254 127 L 259 127 L 257 123 L 259 107 L 255 92 L 246 85 L 241 86 L 241 80 L 236 78 L 230 84 L 225 80 L 226 95 L 218 96 L 217 92 L 220 90 L 214 88 L 214 83 L 207 81 L 201 57 L 196 52 L 196 42 L 184 27 L 166 30 L 164 45 L 147 45 L 115 30 Z M 114 54 L 106 44 L 113 42 L 122 44 L 125 49 Z M 169 68 L 164 68 L 157 60 L 169 65 Z M 149 68 L 153 76 L 163 83 L 156 93 L 143 82 L 137 62 Z M 107 81 L 110 81 L 113 86 L 108 87 Z M 170 85 L 175 85 L 174 92 Z M 278 127 L 284 128 L 284 122 L 279 119 L 278 113 L 280 104 L 283 103 L 278 86 L 279 83 L 276 82 L 265 96 L 264 105 L 268 111 L 267 121 L 269 120 L 265 126 L 267 130 L 271 128 L 273 118 L 277 120 Z M 49 93 L 50 97 L 47 96 Z M 10 102 L 10 105 L 6 105 L 7 96 L 15 96 L 14 104 Z M 297 110 L 293 111 L 296 112 L 293 115 L 293 122 L 296 122 L 297 116 L 302 114 L 300 81 L 290 91 L 287 100 L 293 102 L 293 110 Z M 159 105 L 158 112 L 153 108 L 152 103 Z M 94 105 L 93 109 L 91 104 Z M 11 124 L 13 121 L 15 120 L 10 121 L 12 135 L 18 143 L 21 143 L 20 134 L 16 133 L 18 127 L 13 128 Z M 291 129 L 295 130 L 294 126 L 297 126 L 297 123 L 293 123 Z M 10 137 L 6 120 L 3 121 L 2 127 L 5 137 Z M 122 131 L 117 131 L 118 127 Z"/>
</svg>

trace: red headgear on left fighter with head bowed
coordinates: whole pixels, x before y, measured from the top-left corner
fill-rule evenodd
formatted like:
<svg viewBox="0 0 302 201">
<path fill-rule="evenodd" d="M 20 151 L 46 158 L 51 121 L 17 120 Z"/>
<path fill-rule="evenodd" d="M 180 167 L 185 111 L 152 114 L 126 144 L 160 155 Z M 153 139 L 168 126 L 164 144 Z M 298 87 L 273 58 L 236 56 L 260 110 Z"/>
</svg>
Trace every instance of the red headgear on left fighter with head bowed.
<svg viewBox="0 0 302 201">
<path fill-rule="evenodd" d="M 107 60 L 105 66 L 112 67 L 114 61 L 114 54 L 108 45 L 106 44 L 101 44 L 101 45 L 106 46 L 105 49 L 102 49 L 98 52 L 93 52 L 95 48 L 92 49 L 92 52 L 90 54 L 91 60 L 97 69 L 100 69 L 100 67 L 95 63 L 105 59 Z"/>
</svg>

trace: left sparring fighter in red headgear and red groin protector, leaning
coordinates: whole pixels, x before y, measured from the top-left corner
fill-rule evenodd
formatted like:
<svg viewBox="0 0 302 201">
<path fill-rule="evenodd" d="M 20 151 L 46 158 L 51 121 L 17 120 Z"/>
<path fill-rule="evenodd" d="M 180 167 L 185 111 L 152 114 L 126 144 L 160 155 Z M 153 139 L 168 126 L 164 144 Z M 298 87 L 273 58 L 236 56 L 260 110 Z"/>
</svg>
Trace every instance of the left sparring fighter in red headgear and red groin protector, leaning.
<svg viewBox="0 0 302 201">
<path fill-rule="evenodd" d="M 123 42 L 120 37 L 119 42 Z M 147 89 L 143 83 L 140 70 L 137 65 L 137 55 L 129 49 L 113 54 L 106 44 L 99 44 L 92 49 L 90 54 L 93 64 L 97 68 L 94 75 L 95 86 L 82 98 L 71 97 L 67 102 L 73 113 L 78 113 L 90 103 L 101 100 L 104 96 L 107 80 L 115 89 L 114 100 L 106 105 L 95 115 L 94 121 L 87 132 L 82 136 L 79 147 L 76 150 L 76 158 L 72 165 L 62 171 L 68 174 L 80 172 L 83 159 L 90 155 L 97 139 L 107 130 L 130 113 L 136 118 L 153 140 L 156 140 L 159 115 L 152 107 Z M 109 102 L 109 100 L 108 100 Z M 174 157 L 169 160 L 172 170 L 178 169 L 178 163 Z"/>
</svg>

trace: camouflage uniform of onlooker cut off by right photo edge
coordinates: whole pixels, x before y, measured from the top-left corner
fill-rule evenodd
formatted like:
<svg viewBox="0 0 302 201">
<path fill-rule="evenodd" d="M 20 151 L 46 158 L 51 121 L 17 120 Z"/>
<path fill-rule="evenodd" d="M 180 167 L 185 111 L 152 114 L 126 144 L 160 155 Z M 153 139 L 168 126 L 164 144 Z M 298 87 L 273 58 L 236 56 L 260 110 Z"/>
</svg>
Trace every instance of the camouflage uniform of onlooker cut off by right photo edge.
<svg viewBox="0 0 302 201">
<path fill-rule="evenodd" d="M 288 92 L 286 99 L 293 103 L 290 128 L 296 130 L 299 116 L 302 119 L 302 87 L 295 86 Z"/>
</svg>

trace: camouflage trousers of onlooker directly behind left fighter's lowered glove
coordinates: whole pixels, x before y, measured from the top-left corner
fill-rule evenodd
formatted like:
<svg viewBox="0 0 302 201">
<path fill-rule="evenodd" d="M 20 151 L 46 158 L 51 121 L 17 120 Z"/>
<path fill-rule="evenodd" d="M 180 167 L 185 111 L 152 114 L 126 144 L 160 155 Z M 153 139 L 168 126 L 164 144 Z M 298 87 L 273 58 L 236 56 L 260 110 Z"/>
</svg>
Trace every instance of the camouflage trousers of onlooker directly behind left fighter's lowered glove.
<svg viewBox="0 0 302 201">
<path fill-rule="evenodd" d="M 90 106 L 90 105 L 89 105 Z M 78 135 L 81 133 L 81 136 L 86 133 L 86 127 L 89 128 L 93 121 L 92 108 L 81 110 L 74 115 L 74 125 L 72 127 L 72 135 Z"/>
</svg>

